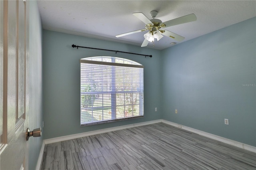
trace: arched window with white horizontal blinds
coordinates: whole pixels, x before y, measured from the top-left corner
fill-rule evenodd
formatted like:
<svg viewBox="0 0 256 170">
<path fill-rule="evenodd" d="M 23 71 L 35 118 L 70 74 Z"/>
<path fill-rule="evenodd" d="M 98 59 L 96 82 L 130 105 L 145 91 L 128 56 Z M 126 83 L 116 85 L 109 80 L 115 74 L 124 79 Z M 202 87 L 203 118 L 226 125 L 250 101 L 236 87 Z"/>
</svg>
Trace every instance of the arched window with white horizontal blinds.
<svg viewBox="0 0 256 170">
<path fill-rule="evenodd" d="M 144 116 L 143 65 L 118 57 L 80 59 L 81 126 Z"/>
</svg>

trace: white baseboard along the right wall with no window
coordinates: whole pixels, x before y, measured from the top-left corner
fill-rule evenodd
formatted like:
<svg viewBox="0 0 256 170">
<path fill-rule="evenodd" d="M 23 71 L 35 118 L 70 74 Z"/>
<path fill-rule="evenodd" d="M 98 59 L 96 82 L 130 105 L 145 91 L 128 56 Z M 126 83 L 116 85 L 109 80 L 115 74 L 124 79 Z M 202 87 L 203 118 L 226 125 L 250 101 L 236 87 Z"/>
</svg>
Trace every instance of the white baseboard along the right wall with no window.
<svg viewBox="0 0 256 170">
<path fill-rule="evenodd" d="M 251 152 L 255 152 L 256 153 L 256 147 L 250 146 L 248 144 L 244 144 L 244 143 L 241 143 L 241 142 L 236 142 L 234 140 L 223 138 L 223 137 L 217 136 L 215 134 L 210 134 L 210 133 L 207 133 L 207 132 L 204 132 L 204 131 L 201 131 L 201 130 L 197 130 L 197 129 L 194 129 L 194 128 L 186 127 L 186 126 L 179 125 L 177 123 L 169 122 L 169 121 L 166 121 L 166 120 L 162 120 L 162 123 L 165 123 L 165 124 L 177 127 L 177 128 L 182 128 L 184 130 L 188 130 L 190 132 L 193 132 L 193 133 L 196 133 L 196 134 L 200 134 L 201 136 L 205 136 L 205 137 L 208 137 L 208 138 L 211 138 L 211 139 L 214 139 L 214 140 L 218 140 L 220 142 L 223 142 L 223 143 L 226 143 L 226 144 L 230 144 L 232 146 L 236 146 L 238 148 L 243 148 L 245 150 L 249 150 Z"/>
</svg>

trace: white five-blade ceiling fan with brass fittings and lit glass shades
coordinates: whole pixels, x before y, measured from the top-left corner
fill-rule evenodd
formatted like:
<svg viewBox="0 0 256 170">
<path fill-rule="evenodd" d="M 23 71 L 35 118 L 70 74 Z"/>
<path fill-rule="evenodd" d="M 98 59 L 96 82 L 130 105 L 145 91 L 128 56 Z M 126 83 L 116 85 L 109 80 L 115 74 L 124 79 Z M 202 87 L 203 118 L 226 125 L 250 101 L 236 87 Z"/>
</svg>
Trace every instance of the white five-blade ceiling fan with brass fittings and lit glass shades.
<svg viewBox="0 0 256 170">
<path fill-rule="evenodd" d="M 153 18 L 151 20 L 149 20 L 141 12 L 136 12 L 136 13 L 132 13 L 132 14 L 146 24 L 145 29 L 136 30 L 136 31 L 132 31 L 132 32 L 127 32 L 127 33 L 124 33 L 124 34 L 119 34 L 116 37 L 119 38 L 119 37 L 122 37 L 122 36 L 127 36 L 127 35 L 130 35 L 130 34 L 143 32 L 143 31 L 148 30 L 148 32 L 146 34 L 144 34 L 145 40 L 143 41 L 141 47 L 146 47 L 149 42 L 154 42 L 155 38 L 156 38 L 157 41 L 159 41 L 163 37 L 162 35 L 173 38 L 176 41 L 182 41 L 182 40 L 184 40 L 184 37 L 179 36 L 178 34 L 175 34 L 175 33 L 170 32 L 168 30 L 161 29 L 161 28 L 166 28 L 166 27 L 175 26 L 175 25 L 178 25 L 178 24 L 184 24 L 184 23 L 187 23 L 187 22 L 196 21 L 196 15 L 195 14 L 189 14 L 189 15 L 186 15 L 186 16 L 182 16 L 180 18 L 176 18 L 176 19 L 173 19 L 173 20 L 166 21 L 166 22 L 162 22 L 161 20 L 155 19 L 156 15 L 158 14 L 158 11 L 151 11 L 150 12 L 151 17 Z"/>
</svg>

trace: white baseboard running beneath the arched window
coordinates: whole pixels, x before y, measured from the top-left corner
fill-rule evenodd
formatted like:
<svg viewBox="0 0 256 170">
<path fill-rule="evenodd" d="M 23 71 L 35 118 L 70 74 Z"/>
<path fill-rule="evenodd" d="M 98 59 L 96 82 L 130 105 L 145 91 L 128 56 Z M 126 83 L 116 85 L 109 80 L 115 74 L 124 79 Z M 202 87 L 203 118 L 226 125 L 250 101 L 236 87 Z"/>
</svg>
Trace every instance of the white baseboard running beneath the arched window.
<svg viewBox="0 0 256 170">
<path fill-rule="evenodd" d="M 90 132 L 71 134 L 68 136 L 61 136 L 61 137 L 57 137 L 57 138 L 45 139 L 44 143 L 50 144 L 50 143 L 61 142 L 61 141 L 65 141 L 65 140 L 71 140 L 71 139 L 81 138 L 81 137 L 85 137 L 85 136 L 91 136 L 91 135 L 101 134 L 101 133 L 106 133 L 106 132 L 113 132 L 116 130 L 139 127 L 139 126 L 150 125 L 150 124 L 160 123 L 160 122 L 162 122 L 162 119 L 155 120 L 155 121 L 142 122 L 142 123 L 135 123 L 135 124 L 131 124 L 131 125 L 124 125 L 124 126 L 119 126 L 119 127 L 104 128 L 104 129 L 94 130 L 94 131 L 90 131 Z"/>
</svg>

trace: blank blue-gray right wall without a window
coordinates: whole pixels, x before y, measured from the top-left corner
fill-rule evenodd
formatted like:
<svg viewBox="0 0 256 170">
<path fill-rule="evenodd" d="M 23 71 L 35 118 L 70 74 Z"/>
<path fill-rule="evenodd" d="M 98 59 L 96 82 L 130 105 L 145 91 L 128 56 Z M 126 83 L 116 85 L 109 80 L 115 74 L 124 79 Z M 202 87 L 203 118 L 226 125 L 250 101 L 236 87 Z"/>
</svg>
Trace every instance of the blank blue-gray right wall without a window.
<svg viewBox="0 0 256 170">
<path fill-rule="evenodd" d="M 252 18 L 163 50 L 162 119 L 256 146 L 255 42 Z"/>
</svg>

